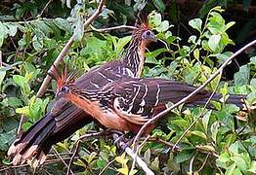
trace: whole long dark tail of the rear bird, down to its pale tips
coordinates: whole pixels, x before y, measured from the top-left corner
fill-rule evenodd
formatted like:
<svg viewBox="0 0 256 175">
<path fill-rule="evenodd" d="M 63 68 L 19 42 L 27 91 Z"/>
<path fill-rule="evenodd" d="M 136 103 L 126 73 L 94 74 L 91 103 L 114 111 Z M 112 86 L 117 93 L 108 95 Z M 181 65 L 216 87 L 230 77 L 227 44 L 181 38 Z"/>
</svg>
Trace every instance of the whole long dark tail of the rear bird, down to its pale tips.
<svg viewBox="0 0 256 175">
<path fill-rule="evenodd" d="M 13 156 L 13 164 L 32 160 L 32 166 L 41 165 L 52 145 L 63 141 L 92 118 L 74 105 L 66 103 L 58 115 L 53 112 L 34 123 L 9 148 L 8 156 Z"/>
</svg>

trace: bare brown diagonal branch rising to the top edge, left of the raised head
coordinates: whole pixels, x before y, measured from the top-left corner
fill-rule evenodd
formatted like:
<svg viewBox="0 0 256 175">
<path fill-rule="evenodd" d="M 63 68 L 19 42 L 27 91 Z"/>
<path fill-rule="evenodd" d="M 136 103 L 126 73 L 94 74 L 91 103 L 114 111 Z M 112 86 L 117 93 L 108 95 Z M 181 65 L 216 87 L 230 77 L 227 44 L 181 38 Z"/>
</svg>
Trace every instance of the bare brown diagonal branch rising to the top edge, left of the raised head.
<svg viewBox="0 0 256 175">
<path fill-rule="evenodd" d="M 84 28 L 87 28 L 96 18 L 98 18 L 100 16 L 100 14 L 105 9 L 105 4 L 106 4 L 106 0 L 101 0 L 100 4 L 98 6 L 98 9 L 95 11 L 95 13 L 84 22 Z M 63 51 L 58 55 L 54 64 L 51 66 L 51 68 L 48 70 L 48 72 L 53 71 L 54 66 L 58 67 L 61 64 L 61 61 L 63 60 L 64 56 L 69 51 L 69 49 L 71 48 L 73 42 L 74 42 L 74 36 L 72 35 L 70 37 L 70 39 L 68 40 L 68 42 L 65 44 Z M 44 94 L 44 92 L 46 91 L 47 86 L 50 84 L 51 80 L 52 80 L 52 78 L 49 75 L 47 75 L 46 78 L 44 79 L 42 86 L 39 88 L 39 90 L 36 94 L 37 97 L 40 97 Z"/>
</svg>

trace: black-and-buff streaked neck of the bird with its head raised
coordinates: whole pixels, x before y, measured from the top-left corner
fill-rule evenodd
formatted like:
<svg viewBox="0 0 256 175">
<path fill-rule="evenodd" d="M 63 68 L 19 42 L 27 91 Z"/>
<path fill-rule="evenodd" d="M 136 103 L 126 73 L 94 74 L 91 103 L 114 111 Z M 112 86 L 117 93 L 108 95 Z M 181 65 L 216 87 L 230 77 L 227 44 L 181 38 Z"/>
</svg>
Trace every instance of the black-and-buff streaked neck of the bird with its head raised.
<svg viewBox="0 0 256 175">
<path fill-rule="evenodd" d="M 134 73 L 135 77 L 140 77 L 145 60 L 146 44 L 142 39 L 133 37 L 123 58 L 123 63 Z"/>
</svg>

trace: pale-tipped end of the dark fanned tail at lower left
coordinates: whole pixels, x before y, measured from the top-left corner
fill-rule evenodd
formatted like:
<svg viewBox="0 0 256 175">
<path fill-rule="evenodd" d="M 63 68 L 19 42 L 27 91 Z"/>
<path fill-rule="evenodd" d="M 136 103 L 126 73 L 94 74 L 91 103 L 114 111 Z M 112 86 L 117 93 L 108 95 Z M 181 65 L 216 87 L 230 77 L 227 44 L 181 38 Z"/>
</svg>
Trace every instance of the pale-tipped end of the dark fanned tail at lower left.
<svg viewBox="0 0 256 175">
<path fill-rule="evenodd" d="M 8 156 L 14 156 L 13 164 L 22 164 L 32 157 L 35 157 L 39 163 L 42 163 L 52 146 L 48 145 L 45 140 L 53 132 L 54 126 L 54 118 L 51 115 L 46 115 L 24 132 L 21 138 L 17 139 L 9 148 Z M 44 147 L 50 147 L 47 153 L 40 151 Z"/>
</svg>

